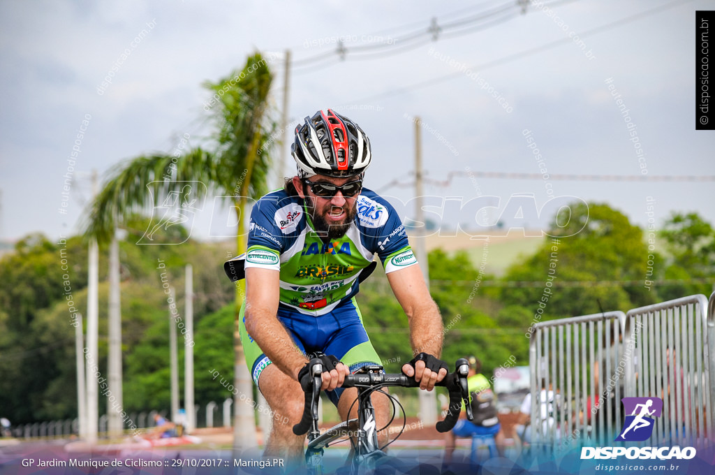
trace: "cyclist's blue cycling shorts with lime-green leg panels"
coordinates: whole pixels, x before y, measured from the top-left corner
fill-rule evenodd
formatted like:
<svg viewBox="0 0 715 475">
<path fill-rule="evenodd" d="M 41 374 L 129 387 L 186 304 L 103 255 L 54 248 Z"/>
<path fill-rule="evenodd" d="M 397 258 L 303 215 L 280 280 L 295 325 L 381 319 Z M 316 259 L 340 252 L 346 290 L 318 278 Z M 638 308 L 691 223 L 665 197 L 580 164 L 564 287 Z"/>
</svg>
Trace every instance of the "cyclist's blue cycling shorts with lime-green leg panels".
<svg viewBox="0 0 715 475">
<path fill-rule="evenodd" d="M 260 388 L 258 379 L 271 361 L 246 330 L 245 306 L 244 302 L 239 315 L 241 343 L 248 370 Z M 305 315 L 279 305 L 277 317 L 303 354 L 322 351 L 326 355 L 333 355 L 350 368 L 350 373 L 355 373 L 363 366 L 380 364 L 380 357 L 365 332 L 363 315 L 360 314 L 355 298 L 320 316 Z M 342 390 L 336 388 L 335 391 L 325 393 L 337 405 Z"/>
</svg>

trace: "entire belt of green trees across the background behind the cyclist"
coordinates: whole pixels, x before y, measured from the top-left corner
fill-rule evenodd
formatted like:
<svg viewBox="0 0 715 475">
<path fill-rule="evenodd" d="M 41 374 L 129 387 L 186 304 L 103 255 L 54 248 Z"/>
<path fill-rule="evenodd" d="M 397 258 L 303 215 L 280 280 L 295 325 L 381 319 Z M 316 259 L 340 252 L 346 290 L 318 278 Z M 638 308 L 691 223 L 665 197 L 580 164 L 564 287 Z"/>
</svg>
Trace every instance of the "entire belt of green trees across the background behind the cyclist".
<svg viewBox="0 0 715 475">
<path fill-rule="evenodd" d="M 576 207 L 576 211 L 573 229 L 578 230 L 586 222 L 586 210 Z M 232 381 L 235 368 L 235 306 L 231 303 L 235 286 L 221 268 L 232 245 L 193 240 L 182 245 L 137 245 L 147 222 L 138 217 L 127 220 L 129 232 L 119 243 L 124 408 L 149 411 L 169 407 L 169 310 L 160 273 L 165 272 L 176 289 L 181 312 L 187 263 L 194 268 L 196 402 L 202 406 L 209 401 L 219 403 L 230 397 L 220 378 Z M 473 354 L 483 361 L 485 373 L 506 364 L 511 356 L 516 364 L 527 365 L 528 338 L 524 333 L 538 315 L 552 259 L 556 259 L 554 282 L 594 285 L 554 285 L 544 319 L 597 313 L 601 308 L 628 310 L 692 293 L 709 295 L 712 280 L 700 285 L 656 286 L 650 291 L 619 283 L 642 280 L 649 255 L 659 256 L 655 266 L 658 278 L 712 279 L 715 233 L 698 215 L 669 218 L 661 235 L 665 243 L 662 254 L 649 250 L 644 233 L 606 205 L 589 205 L 587 224 L 568 237 L 568 227 L 554 224 L 552 234 L 562 232 L 558 244 L 546 238 L 536 253 L 513 265 L 502 279 L 505 283 L 533 282 L 536 287 L 504 287 L 496 296 L 480 285 L 495 278 L 479 273 L 467 255 L 433 250 L 429 255 L 430 291 L 445 326 L 445 361 Z M 172 232 L 181 235 L 186 231 Z M 107 248 L 100 246 L 97 359 L 102 373 L 107 371 L 107 254 Z M 157 269 L 159 259 L 166 268 Z M 74 327 L 69 303 L 82 313 L 87 308 L 87 245 L 81 236 L 59 242 L 37 234 L 26 236 L 13 253 L 0 258 L 0 282 L 0 416 L 13 423 L 76 417 Z M 408 322 L 381 270 L 361 285 L 357 300 L 386 368 L 400 371 L 411 358 Z M 179 333 L 179 361 L 183 342 Z M 216 371 L 220 376 L 214 378 Z M 183 388 L 183 373 L 179 385 Z M 100 413 L 105 408 L 106 400 L 100 398 Z"/>
</svg>

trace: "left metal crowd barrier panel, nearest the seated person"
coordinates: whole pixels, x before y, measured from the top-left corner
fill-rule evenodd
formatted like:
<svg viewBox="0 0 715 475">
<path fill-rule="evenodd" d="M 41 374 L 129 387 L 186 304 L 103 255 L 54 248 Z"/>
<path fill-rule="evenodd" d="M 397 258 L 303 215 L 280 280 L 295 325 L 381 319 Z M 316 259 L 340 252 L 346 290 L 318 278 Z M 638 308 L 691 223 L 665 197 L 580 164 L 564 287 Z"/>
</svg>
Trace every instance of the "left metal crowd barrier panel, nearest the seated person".
<svg viewBox="0 0 715 475">
<path fill-rule="evenodd" d="M 534 325 L 529 342 L 533 444 L 558 448 L 613 440 L 621 420 L 625 321 L 623 312 L 613 311 Z"/>
</svg>

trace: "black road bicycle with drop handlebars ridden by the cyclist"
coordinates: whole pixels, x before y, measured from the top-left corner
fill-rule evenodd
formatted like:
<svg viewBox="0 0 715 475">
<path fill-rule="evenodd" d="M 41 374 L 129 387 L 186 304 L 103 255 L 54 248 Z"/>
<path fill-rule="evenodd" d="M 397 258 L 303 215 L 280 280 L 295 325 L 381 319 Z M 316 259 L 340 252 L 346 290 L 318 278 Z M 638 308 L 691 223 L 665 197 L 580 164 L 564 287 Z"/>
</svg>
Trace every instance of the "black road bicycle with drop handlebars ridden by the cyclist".
<svg viewBox="0 0 715 475">
<path fill-rule="evenodd" d="M 389 473 L 406 471 L 408 468 L 402 461 L 389 457 L 384 451 L 385 447 L 392 444 L 402 434 L 406 421 L 403 422 L 403 428 L 395 436 L 395 439 L 388 441 L 383 446 L 378 444 L 378 432 L 390 426 L 390 423 L 395 419 L 397 413 L 395 405 L 400 407 L 403 419 L 405 414 L 405 409 L 400 402 L 389 393 L 383 391 L 383 388 L 388 386 L 415 388 L 420 386 L 420 383 L 415 381 L 414 378 L 405 376 L 403 373 L 385 373 L 380 365 L 363 366 L 357 373 L 345 376 L 345 382 L 342 383 L 343 388 L 358 388 L 358 398 L 352 403 L 353 406 L 358 403 L 358 418 L 339 423 L 321 433 L 317 422 L 317 405 L 322 381 L 320 358 L 312 358 L 310 368 L 310 372 L 301 381 L 301 386 L 305 392 L 305 407 L 302 418 L 299 423 L 293 426 L 293 433 L 297 436 L 307 432 L 308 444 L 305 451 L 307 473 L 310 475 L 322 475 L 324 449 L 338 440 L 342 441 L 345 437 L 350 438 L 350 444 L 352 445 L 352 461 L 350 471 L 347 473 L 358 475 L 383 473 L 383 471 Z M 454 427 L 459 418 L 462 403 L 464 403 L 468 419 L 473 420 L 467 388 L 468 371 L 468 361 L 465 358 L 460 358 L 455 363 L 455 372 L 448 373 L 442 381 L 435 385 L 448 388 L 449 391 L 449 409 L 444 420 L 438 421 L 435 425 L 439 432 L 447 432 Z M 373 393 L 385 394 L 393 404 L 392 418 L 382 429 L 377 429 L 375 424 L 375 409 L 370 401 L 370 396 Z M 352 411 L 352 406 L 350 406 L 350 411 Z"/>
</svg>

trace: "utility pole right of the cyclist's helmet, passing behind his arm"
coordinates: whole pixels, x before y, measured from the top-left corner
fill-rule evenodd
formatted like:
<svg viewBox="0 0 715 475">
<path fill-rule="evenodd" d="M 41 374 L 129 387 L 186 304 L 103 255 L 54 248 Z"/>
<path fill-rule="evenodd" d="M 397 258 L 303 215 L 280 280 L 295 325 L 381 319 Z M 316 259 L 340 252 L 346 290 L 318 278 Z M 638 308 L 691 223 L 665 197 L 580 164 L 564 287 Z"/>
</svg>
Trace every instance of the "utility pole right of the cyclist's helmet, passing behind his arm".
<svg viewBox="0 0 715 475">
<path fill-rule="evenodd" d="M 415 255 L 420 263 L 420 270 L 425 279 L 427 289 L 430 289 L 430 270 L 427 260 L 427 250 L 425 246 L 426 225 L 425 213 L 423 212 L 423 171 L 422 171 L 422 122 L 420 117 L 415 117 L 415 220 L 421 222 L 421 227 L 415 232 L 413 241 L 415 243 Z M 423 423 L 429 425 L 437 422 L 437 396 L 435 392 L 420 391 L 420 418 Z"/>
</svg>

